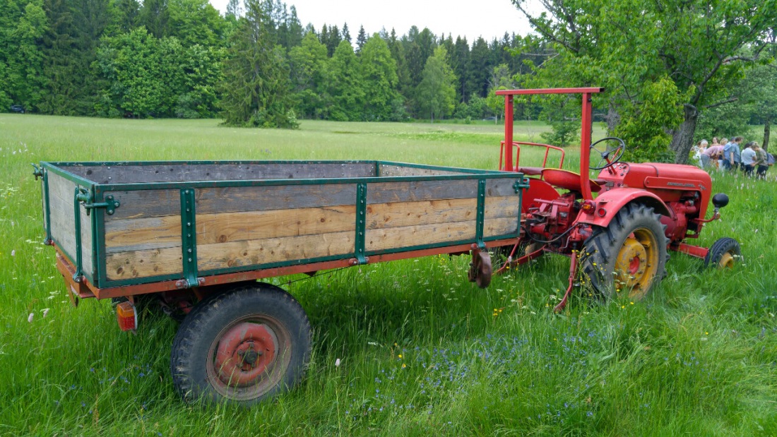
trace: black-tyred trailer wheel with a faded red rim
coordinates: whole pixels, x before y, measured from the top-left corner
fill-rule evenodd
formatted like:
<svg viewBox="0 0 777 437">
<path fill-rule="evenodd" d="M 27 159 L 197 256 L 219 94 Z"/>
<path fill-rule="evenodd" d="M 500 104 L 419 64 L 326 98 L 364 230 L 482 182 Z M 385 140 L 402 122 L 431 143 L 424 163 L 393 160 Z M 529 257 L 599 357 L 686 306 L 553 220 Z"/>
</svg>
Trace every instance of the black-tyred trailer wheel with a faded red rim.
<svg viewBox="0 0 777 437">
<path fill-rule="evenodd" d="M 297 300 L 256 283 L 209 297 L 186 316 L 170 371 L 186 401 L 249 406 L 294 386 L 310 358 L 311 329 Z"/>
</svg>

